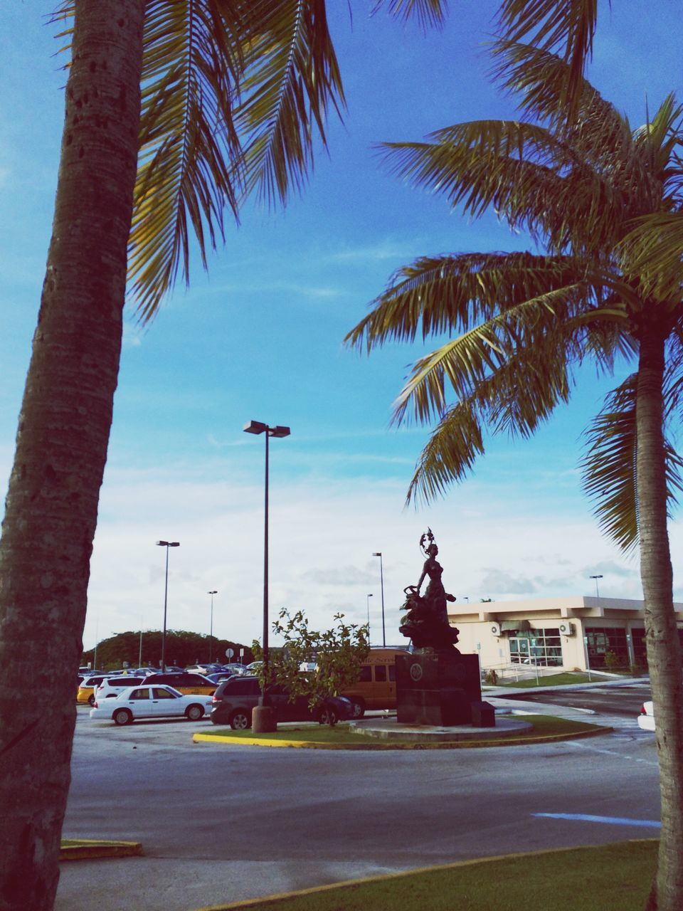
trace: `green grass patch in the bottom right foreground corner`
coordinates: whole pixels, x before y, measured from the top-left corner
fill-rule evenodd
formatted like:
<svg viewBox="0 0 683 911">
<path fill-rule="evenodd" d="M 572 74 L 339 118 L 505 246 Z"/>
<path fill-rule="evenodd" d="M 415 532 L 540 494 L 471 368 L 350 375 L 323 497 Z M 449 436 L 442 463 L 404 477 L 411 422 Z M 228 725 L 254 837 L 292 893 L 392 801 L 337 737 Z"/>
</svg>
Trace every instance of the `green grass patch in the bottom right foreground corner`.
<svg viewBox="0 0 683 911">
<path fill-rule="evenodd" d="M 656 841 L 516 856 L 251 902 L 250 911 L 642 911 Z M 235 906 L 233 906 L 235 907 Z"/>
</svg>

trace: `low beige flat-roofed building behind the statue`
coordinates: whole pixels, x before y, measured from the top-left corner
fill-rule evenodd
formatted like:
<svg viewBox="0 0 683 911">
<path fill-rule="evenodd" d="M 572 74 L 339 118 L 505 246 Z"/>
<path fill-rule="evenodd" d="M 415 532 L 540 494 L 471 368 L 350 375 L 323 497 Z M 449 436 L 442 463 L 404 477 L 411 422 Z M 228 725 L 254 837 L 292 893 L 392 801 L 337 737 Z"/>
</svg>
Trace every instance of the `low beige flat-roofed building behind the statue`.
<svg viewBox="0 0 683 911">
<path fill-rule="evenodd" d="M 683 604 L 675 603 L 683 639 Z M 516 665 L 599 670 L 612 652 L 624 667 L 646 667 L 643 602 L 545 598 L 449 605 L 457 648 L 478 652 L 483 670 Z M 609 663 L 609 659 L 607 659 Z"/>
</svg>

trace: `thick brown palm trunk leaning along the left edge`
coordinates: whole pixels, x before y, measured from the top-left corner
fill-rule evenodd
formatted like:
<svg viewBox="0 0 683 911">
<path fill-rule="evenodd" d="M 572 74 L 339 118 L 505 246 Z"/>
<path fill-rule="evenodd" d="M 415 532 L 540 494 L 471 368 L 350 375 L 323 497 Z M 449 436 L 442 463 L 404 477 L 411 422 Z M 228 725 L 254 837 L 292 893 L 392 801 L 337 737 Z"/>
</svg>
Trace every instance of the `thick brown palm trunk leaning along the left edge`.
<svg viewBox="0 0 683 911">
<path fill-rule="evenodd" d="M 0 541 L 0 908 L 53 907 L 138 157 L 144 0 L 76 0 L 53 235 Z"/>
</svg>

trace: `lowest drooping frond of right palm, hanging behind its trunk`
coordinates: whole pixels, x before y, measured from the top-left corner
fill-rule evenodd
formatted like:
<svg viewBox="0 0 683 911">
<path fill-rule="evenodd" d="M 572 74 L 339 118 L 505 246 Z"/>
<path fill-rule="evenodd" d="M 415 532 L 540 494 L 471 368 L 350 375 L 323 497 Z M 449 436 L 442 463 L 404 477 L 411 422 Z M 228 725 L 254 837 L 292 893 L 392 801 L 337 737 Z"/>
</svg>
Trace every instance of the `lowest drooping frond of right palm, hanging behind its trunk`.
<svg viewBox="0 0 683 911">
<path fill-rule="evenodd" d="M 638 544 L 636 396 L 637 374 L 631 374 L 591 422 L 581 462 L 583 489 L 595 503 L 600 528 L 627 553 Z M 667 440 L 665 460 L 670 509 L 683 489 L 683 459 Z"/>
</svg>

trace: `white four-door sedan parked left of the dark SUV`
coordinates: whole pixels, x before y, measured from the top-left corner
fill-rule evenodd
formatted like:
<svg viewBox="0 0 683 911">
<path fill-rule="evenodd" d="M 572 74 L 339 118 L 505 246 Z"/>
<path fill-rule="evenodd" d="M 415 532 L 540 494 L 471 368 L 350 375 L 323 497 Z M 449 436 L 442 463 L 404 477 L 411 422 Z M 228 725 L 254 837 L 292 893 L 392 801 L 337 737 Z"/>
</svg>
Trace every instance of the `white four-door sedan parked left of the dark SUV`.
<svg viewBox="0 0 683 911">
<path fill-rule="evenodd" d="M 190 695 L 172 686 L 127 687 L 115 699 L 96 701 L 90 710 L 91 718 L 111 720 L 115 724 L 130 724 L 138 718 L 188 718 L 198 722 L 211 711 L 211 696 Z"/>
</svg>

